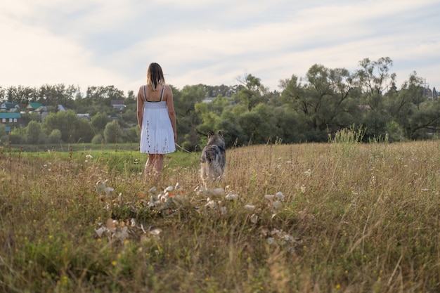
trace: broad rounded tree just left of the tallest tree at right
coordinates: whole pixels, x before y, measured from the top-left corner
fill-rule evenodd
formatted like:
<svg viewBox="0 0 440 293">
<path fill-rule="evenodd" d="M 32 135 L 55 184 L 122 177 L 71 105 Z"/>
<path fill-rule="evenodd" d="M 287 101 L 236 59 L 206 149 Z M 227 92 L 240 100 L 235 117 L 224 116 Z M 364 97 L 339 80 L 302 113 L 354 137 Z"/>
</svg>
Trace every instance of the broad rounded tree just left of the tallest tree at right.
<svg viewBox="0 0 440 293">
<path fill-rule="evenodd" d="M 298 112 L 315 139 L 324 138 L 327 131 L 337 131 L 356 122 L 359 93 L 354 77 L 344 68 L 328 69 L 313 65 L 304 84 L 292 75 L 280 81 L 280 100 Z M 322 134 L 318 134 L 322 132 Z"/>
</svg>

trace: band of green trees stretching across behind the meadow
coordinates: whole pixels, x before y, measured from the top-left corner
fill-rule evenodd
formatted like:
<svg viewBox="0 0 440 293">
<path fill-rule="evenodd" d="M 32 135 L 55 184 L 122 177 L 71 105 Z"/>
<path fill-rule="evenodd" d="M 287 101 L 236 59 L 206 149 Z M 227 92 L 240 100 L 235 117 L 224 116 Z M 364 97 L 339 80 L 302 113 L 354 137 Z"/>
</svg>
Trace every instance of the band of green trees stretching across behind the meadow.
<svg viewBox="0 0 440 293">
<path fill-rule="evenodd" d="M 234 86 L 188 85 L 176 89 L 178 141 L 186 150 L 200 150 L 209 130 L 224 132 L 226 144 L 247 145 L 268 141 L 323 142 L 341 129 L 362 127 L 363 140 L 387 137 L 388 141 L 436 137 L 440 126 L 440 100 L 416 72 L 399 89 L 388 58 L 358 63 L 358 70 L 327 68 L 315 64 L 304 77 L 281 79 L 279 91 L 269 91 L 252 74 L 237 78 Z M 136 93 L 137 94 L 137 93 Z M 20 105 L 39 102 L 53 107 L 42 121 L 37 114 L 23 114 L 22 126 L 1 142 L 12 143 L 138 143 L 136 94 L 114 86 L 44 85 L 0 87 L 0 100 Z M 112 109 L 110 100 L 124 100 L 123 110 Z M 208 103 L 209 102 L 209 103 Z M 82 119 L 78 113 L 89 114 Z M 4 127 L 4 126 L 3 126 Z"/>
</svg>

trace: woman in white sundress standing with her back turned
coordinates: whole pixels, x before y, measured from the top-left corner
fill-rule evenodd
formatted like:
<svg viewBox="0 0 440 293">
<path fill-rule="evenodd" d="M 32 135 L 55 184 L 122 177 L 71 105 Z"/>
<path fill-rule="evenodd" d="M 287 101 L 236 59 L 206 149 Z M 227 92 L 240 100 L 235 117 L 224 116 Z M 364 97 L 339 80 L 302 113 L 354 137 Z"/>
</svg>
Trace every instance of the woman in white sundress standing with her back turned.
<svg viewBox="0 0 440 293">
<path fill-rule="evenodd" d="M 141 152 L 148 154 L 145 181 L 153 173 L 157 179 L 164 163 L 164 154 L 174 152 L 176 146 L 176 112 L 173 92 L 165 85 L 162 67 L 151 63 L 147 70 L 147 84 L 138 92 L 138 124 L 141 129 Z"/>
</svg>

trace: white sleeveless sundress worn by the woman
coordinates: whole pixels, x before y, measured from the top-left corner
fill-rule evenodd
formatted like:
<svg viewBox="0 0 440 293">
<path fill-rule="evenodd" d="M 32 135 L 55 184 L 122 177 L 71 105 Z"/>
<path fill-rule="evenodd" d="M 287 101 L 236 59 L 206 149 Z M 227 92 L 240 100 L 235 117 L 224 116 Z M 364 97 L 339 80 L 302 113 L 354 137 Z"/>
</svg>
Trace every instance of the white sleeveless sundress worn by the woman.
<svg viewBox="0 0 440 293">
<path fill-rule="evenodd" d="M 143 118 L 141 129 L 141 152 L 148 154 L 168 154 L 176 150 L 174 131 L 164 98 L 165 86 L 159 102 L 148 102 L 143 86 Z"/>
</svg>

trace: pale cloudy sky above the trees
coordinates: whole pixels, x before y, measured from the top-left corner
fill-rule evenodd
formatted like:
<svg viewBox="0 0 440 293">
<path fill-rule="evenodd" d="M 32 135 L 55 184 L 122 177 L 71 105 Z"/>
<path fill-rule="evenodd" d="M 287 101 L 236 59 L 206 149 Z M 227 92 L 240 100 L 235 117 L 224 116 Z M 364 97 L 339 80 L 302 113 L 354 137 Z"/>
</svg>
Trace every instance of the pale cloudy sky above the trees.
<svg viewBox="0 0 440 293">
<path fill-rule="evenodd" d="M 167 84 L 269 90 L 314 64 L 393 60 L 440 89 L 438 0 L 13 0 L 0 4 L 0 86 L 115 86 L 137 93 L 150 63 Z"/>
</svg>

